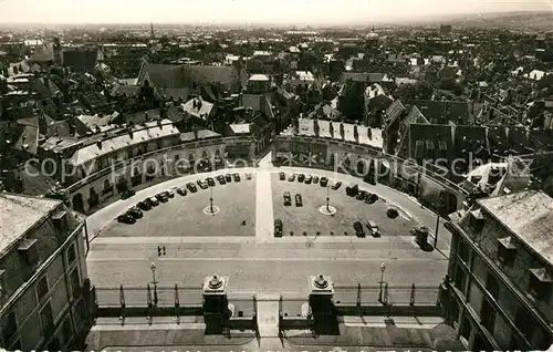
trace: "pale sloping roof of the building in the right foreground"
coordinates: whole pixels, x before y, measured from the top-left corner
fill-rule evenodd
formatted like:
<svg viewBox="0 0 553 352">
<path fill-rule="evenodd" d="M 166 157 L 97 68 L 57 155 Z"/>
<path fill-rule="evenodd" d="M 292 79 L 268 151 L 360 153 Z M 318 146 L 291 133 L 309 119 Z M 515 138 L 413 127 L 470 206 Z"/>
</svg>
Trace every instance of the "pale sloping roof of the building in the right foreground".
<svg viewBox="0 0 553 352">
<path fill-rule="evenodd" d="M 528 190 L 479 200 L 514 236 L 553 266 L 553 199 Z"/>
</svg>

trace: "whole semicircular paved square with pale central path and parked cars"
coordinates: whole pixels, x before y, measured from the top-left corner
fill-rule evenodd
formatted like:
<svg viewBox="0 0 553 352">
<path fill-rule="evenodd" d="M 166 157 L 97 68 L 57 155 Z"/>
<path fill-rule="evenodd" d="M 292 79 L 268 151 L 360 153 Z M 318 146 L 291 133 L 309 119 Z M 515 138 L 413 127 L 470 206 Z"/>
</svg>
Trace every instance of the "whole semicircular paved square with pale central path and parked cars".
<svg viewBox="0 0 553 352">
<path fill-rule="evenodd" d="M 239 172 L 241 176 L 244 172 L 251 172 L 253 179 L 247 180 L 242 176 L 240 184 L 217 185 L 213 198 L 221 211 L 215 217 L 204 214 L 204 208 L 209 204 L 209 190 L 206 189 L 185 197 L 176 195 L 168 203 L 146 213 L 146 217 L 135 225 L 112 222 L 105 227 L 100 237 L 91 242 L 87 256 L 93 283 L 97 288 L 117 289 L 121 283 L 145 288 L 153 281 L 150 265 L 155 262 L 156 280 L 163 287 L 171 288 L 177 283 L 181 288 L 199 288 L 205 277 L 218 273 L 230 277 L 228 289 L 231 297 L 279 292 L 305 298 L 309 292 L 307 276 L 328 275 L 336 286 L 355 287 L 361 282 L 374 287 L 380 280 L 380 265 L 384 262 L 385 281 L 390 286 L 410 286 L 415 282 L 417 286 L 436 288 L 437 292 L 440 278 L 447 270 L 447 258 L 439 251 L 425 252 L 418 248 L 409 234 L 415 221 L 400 217 L 387 218 L 383 200 L 367 205 L 345 195 L 345 186 L 351 182 L 347 177 L 335 176 L 342 177 L 344 185 L 338 190 L 331 190 L 331 204 L 338 209 L 332 218 L 319 213 L 319 207 L 325 204 L 326 198 L 326 190 L 319 184 L 279 180 L 276 168 Z M 313 169 L 310 173 L 333 177 L 322 170 Z M 220 172 L 201 177 L 218 174 Z M 198 176 L 140 190 L 132 201 L 118 201 L 94 214 L 91 222 L 113 218 L 118 214 L 111 213 L 124 211 L 129 204 L 163 189 L 196 182 Z M 359 186 L 365 185 L 359 183 Z M 284 190 L 291 191 L 292 196 L 300 191 L 304 207 L 296 208 L 293 205 L 284 208 Z M 426 217 L 427 210 L 403 195 L 384 186 L 375 190 L 384 198 L 390 197 L 395 204 L 399 203 L 406 214 L 428 219 L 425 222 L 427 226 L 430 227 L 429 222 L 435 221 L 431 214 Z M 283 220 L 285 231 L 290 230 L 289 227 L 298 232 L 305 229 L 309 236 L 274 238 L 272 222 L 276 217 Z M 247 220 L 246 226 L 240 225 L 243 219 Z M 367 219 L 380 226 L 382 238 L 354 236 L 352 222 Z M 315 237 L 317 230 L 322 234 Z M 344 236 L 344 230 L 351 235 Z M 330 231 L 336 235 L 330 236 Z M 157 256 L 159 245 L 166 247 L 165 256 Z M 103 294 L 103 299 L 117 304 L 117 290 L 112 293 Z M 144 294 L 137 294 L 139 300 L 144 299 Z M 167 294 L 173 297 L 170 292 Z M 182 302 L 200 300 L 197 293 L 186 296 L 188 299 L 182 297 Z M 376 300 L 376 296 L 374 290 L 364 291 L 363 299 Z M 355 299 L 355 290 L 336 292 L 337 301 Z M 434 300 L 435 294 L 429 294 L 427 299 Z M 286 311 L 295 315 L 299 313 L 298 304 L 292 306 Z"/>
</svg>

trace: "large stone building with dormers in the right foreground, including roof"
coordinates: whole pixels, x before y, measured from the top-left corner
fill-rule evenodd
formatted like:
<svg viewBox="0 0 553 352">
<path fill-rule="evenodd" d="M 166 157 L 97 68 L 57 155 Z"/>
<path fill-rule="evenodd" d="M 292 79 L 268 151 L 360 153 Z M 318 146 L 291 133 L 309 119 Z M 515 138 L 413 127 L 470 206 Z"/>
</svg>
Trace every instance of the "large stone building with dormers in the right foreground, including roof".
<svg viewBox="0 0 553 352">
<path fill-rule="evenodd" d="M 446 315 L 472 351 L 553 343 L 553 199 L 524 190 L 450 216 Z"/>
</svg>

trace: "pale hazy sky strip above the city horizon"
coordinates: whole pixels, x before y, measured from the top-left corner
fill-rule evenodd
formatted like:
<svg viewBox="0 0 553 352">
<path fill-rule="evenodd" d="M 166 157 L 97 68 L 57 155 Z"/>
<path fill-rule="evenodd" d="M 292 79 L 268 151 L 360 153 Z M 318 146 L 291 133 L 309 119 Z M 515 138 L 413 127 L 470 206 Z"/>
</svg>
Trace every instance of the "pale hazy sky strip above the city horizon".
<svg viewBox="0 0 553 352">
<path fill-rule="evenodd" d="M 552 11 L 553 0 L 0 0 L 0 23 L 344 24 Z"/>
</svg>

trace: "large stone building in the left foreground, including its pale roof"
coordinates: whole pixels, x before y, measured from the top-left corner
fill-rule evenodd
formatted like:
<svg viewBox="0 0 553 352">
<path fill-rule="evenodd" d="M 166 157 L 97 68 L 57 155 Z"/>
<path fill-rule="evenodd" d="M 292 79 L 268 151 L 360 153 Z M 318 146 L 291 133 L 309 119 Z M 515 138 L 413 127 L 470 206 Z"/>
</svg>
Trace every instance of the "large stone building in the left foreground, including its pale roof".
<svg viewBox="0 0 553 352">
<path fill-rule="evenodd" d="M 0 346 L 80 349 L 91 321 L 85 231 L 61 200 L 0 193 Z"/>
</svg>

